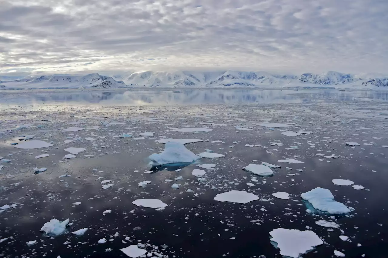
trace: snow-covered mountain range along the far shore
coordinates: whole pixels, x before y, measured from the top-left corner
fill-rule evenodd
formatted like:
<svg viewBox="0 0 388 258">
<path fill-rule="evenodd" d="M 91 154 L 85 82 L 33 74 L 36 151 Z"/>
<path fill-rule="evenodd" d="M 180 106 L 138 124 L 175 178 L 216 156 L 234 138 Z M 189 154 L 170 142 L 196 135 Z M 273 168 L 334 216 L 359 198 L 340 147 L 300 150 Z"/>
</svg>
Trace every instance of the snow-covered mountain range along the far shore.
<svg viewBox="0 0 388 258">
<path fill-rule="evenodd" d="M 250 71 L 144 71 L 87 75 L 52 74 L 7 80 L 0 76 L 2 89 L 43 88 L 388 88 L 388 76 L 352 75 L 329 71 L 322 74 L 270 74 Z"/>
</svg>

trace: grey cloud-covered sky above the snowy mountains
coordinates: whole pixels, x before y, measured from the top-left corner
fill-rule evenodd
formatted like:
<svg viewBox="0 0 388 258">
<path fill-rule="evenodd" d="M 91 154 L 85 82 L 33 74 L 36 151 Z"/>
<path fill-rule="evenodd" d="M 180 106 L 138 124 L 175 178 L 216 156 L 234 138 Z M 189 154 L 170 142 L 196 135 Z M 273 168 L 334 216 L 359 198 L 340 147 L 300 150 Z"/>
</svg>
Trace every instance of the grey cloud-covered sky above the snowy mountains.
<svg viewBox="0 0 388 258">
<path fill-rule="evenodd" d="M 2 72 L 388 71 L 388 0 L 1 0 Z"/>
</svg>

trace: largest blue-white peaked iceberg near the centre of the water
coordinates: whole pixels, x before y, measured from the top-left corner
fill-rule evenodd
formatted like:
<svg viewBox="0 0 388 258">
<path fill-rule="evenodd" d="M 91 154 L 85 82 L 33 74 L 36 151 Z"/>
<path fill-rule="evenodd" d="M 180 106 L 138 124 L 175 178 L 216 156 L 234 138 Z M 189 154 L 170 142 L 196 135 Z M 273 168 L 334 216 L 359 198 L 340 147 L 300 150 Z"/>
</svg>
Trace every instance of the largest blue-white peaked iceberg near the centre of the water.
<svg viewBox="0 0 388 258">
<path fill-rule="evenodd" d="M 159 166 L 173 163 L 191 163 L 201 157 L 186 149 L 183 144 L 166 142 L 164 151 L 151 154 L 148 158 L 151 160 L 150 164 Z"/>
</svg>

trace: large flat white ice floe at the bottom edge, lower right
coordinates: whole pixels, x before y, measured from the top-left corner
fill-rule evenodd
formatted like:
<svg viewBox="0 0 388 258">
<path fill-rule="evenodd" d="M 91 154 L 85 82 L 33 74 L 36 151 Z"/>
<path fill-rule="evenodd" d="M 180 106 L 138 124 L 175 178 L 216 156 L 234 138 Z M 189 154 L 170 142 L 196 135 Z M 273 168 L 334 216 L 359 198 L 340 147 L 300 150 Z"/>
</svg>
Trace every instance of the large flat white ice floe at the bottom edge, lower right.
<svg viewBox="0 0 388 258">
<path fill-rule="evenodd" d="M 322 239 L 311 230 L 300 231 L 298 229 L 274 229 L 269 232 L 271 241 L 277 243 L 282 256 L 298 258 L 301 254 L 323 244 Z"/>
</svg>

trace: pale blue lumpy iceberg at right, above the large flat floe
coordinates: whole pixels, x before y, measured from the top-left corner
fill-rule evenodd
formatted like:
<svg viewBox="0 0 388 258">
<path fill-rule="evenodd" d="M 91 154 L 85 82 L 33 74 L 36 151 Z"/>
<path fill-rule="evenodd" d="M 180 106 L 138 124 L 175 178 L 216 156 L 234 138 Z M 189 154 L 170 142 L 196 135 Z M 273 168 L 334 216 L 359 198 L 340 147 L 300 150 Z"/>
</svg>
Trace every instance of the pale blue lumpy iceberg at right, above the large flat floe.
<svg viewBox="0 0 388 258">
<path fill-rule="evenodd" d="M 321 211 L 327 211 L 331 214 L 349 213 L 350 210 L 345 204 L 334 201 L 334 196 L 329 189 L 317 187 L 300 195 L 312 206 Z"/>
</svg>

